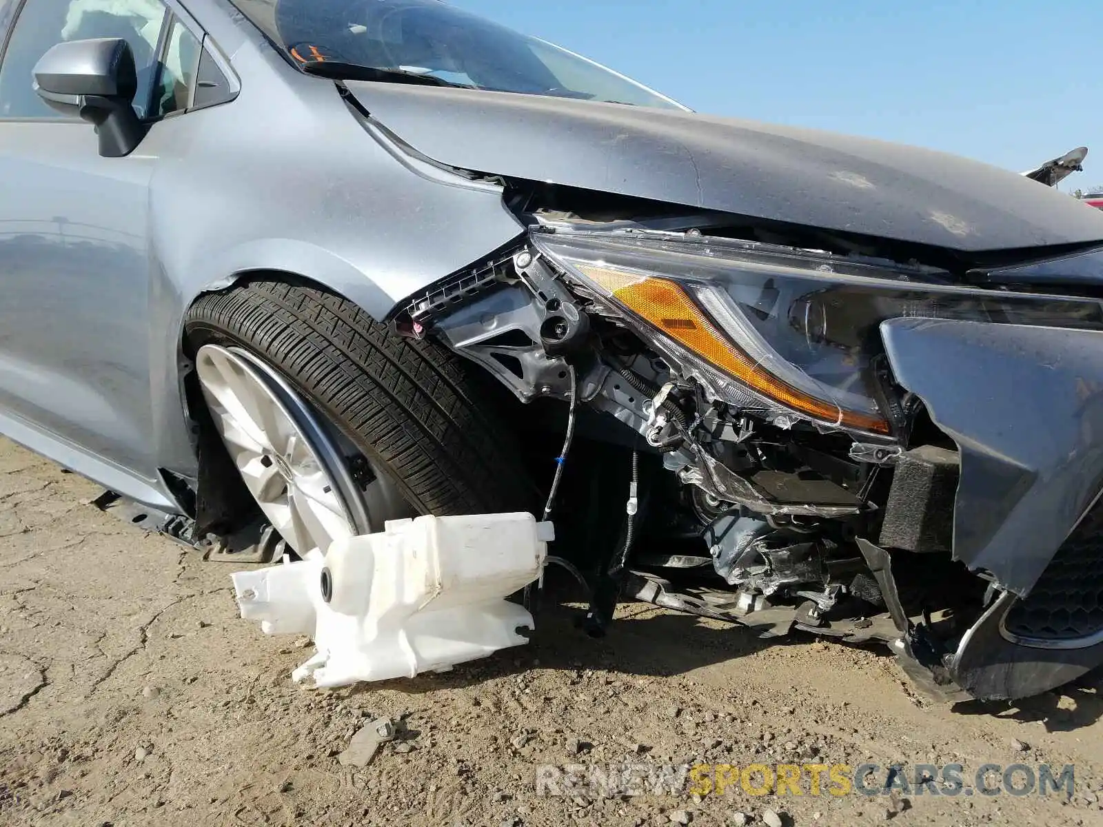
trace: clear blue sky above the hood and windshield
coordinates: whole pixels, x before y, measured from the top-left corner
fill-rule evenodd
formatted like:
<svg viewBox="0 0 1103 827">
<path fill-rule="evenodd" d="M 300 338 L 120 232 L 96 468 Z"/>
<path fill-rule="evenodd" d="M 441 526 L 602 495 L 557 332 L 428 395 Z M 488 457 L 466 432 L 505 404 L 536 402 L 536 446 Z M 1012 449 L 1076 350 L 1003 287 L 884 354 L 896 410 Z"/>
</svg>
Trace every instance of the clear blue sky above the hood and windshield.
<svg viewBox="0 0 1103 827">
<path fill-rule="evenodd" d="M 451 0 L 705 112 L 1103 184 L 1103 0 Z"/>
</svg>

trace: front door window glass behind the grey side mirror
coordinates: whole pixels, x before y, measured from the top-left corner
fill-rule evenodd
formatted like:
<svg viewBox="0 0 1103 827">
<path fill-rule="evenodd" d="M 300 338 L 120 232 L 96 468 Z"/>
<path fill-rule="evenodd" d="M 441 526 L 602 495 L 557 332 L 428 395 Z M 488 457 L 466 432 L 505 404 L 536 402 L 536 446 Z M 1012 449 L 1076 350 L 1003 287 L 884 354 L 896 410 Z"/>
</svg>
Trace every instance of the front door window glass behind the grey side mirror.
<svg viewBox="0 0 1103 827">
<path fill-rule="evenodd" d="M 34 65 L 57 43 L 90 37 L 122 37 L 130 44 L 138 69 L 135 109 L 144 117 L 165 12 L 160 0 L 26 0 L 0 64 L 0 118 L 72 117 L 35 94 Z"/>
</svg>

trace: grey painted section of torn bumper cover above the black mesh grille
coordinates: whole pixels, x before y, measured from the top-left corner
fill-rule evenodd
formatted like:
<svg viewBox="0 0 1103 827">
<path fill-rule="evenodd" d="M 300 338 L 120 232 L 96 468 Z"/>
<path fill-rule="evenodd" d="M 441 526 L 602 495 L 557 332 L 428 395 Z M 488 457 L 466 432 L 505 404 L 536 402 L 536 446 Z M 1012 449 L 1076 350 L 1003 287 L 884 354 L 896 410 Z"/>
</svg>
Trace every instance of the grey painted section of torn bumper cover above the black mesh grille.
<svg viewBox="0 0 1103 827">
<path fill-rule="evenodd" d="M 892 372 L 961 451 L 953 555 L 1019 597 L 1103 482 L 1103 332 L 945 319 L 880 325 Z"/>
</svg>

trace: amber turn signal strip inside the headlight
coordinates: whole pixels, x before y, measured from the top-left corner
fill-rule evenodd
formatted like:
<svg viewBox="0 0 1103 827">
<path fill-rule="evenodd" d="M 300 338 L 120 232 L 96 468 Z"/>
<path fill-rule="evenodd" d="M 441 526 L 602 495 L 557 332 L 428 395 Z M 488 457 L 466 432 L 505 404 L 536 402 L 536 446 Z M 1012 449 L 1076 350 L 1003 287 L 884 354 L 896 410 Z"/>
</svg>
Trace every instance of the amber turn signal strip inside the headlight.
<svg viewBox="0 0 1103 827">
<path fill-rule="evenodd" d="M 764 370 L 724 336 L 675 282 L 650 276 L 632 276 L 593 265 L 575 266 L 668 339 L 762 396 L 822 422 L 838 422 L 847 428 L 874 433 L 889 432 L 889 425 L 885 419 L 856 411 L 840 411 L 837 405 L 808 396 Z"/>
</svg>

